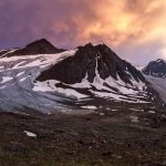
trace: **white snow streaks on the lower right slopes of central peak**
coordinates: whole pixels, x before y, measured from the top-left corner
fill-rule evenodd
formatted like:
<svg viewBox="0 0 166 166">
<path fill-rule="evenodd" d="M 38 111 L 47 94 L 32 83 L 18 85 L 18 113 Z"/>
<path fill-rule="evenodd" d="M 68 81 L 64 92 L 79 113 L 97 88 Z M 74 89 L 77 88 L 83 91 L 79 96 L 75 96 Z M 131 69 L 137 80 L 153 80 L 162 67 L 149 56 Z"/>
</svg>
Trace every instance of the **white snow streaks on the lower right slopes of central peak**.
<svg viewBox="0 0 166 166">
<path fill-rule="evenodd" d="M 126 73 L 131 75 L 127 69 L 126 69 Z M 91 89 L 92 86 L 95 86 L 96 90 L 107 91 L 107 92 L 98 92 L 98 91 L 90 90 L 91 93 L 100 97 L 115 98 L 117 101 L 124 101 L 124 102 L 129 102 L 129 103 L 148 103 L 148 102 L 141 101 L 141 100 L 127 101 L 128 97 L 124 96 L 127 94 L 127 95 L 132 95 L 135 97 L 146 97 L 147 95 L 146 93 L 142 93 L 142 95 L 139 95 L 139 92 L 143 92 L 143 89 L 146 87 L 145 83 L 143 83 L 142 81 L 136 82 L 134 77 L 131 75 L 131 81 L 133 83 L 133 86 L 132 86 L 131 84 L 126 84 L 125 82 L 123 82 L 121 77 L 118 76 L 118 74 L 116 76 L 117 76 L 117 80 L 113 79 L 112 76 L 107 77 L 106 80 L 101 79 L 98 71 L 97 71 L 97 59 L 96 59 L 95 77 L 94 77 L 93 83 L 90 83 L 87 81 L 87 73 L 86 73 L 85 77 L 82 80 L 81 83 L 70 84 L 70 86 L 77 87 L 77 89 Z M 115 92 L 108 86 L 105 86 L 105 84 L 112 87 L 115 87 L 118 92 Z"/>
</svg>

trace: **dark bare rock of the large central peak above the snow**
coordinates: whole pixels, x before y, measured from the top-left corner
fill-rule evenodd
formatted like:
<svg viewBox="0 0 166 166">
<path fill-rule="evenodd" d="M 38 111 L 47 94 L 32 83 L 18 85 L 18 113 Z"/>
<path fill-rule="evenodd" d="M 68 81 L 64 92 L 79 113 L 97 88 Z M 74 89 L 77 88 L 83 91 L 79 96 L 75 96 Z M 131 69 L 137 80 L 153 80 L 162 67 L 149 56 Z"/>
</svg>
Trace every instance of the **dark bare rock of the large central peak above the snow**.
<svg viewBox="0 0 166 166">
<path fill-rule="evenodd" d="M 124 60 L 121 60 L 105 44 L 79 46 L 75 55 L 64 59 L 51 69 L 41 73 L 39 81 L 59 80 L 63 83 L 80 83 L 87 74 L 89 82 L 93 82 L 96 72 L 103 80 L 108 76 L 123 80 L 132 84 L 131 76 L 135 81 L 146 82 L 139 71 Z"/>
</svg>

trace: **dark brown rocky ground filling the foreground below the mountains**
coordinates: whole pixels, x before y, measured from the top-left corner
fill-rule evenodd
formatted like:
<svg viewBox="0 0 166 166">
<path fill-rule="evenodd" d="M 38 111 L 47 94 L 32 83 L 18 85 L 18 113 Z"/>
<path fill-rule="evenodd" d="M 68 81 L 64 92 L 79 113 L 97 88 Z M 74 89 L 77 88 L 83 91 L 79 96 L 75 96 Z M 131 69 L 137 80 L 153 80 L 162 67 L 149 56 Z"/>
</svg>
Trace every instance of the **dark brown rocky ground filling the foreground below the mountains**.
<svg viewBox="0 0 166 166">
<path fill-rule="evenodd" d="M 158 107 L 1 112 L 0 165 L 164 166 L 165 128 L 165 108 Z"/>
</svg>

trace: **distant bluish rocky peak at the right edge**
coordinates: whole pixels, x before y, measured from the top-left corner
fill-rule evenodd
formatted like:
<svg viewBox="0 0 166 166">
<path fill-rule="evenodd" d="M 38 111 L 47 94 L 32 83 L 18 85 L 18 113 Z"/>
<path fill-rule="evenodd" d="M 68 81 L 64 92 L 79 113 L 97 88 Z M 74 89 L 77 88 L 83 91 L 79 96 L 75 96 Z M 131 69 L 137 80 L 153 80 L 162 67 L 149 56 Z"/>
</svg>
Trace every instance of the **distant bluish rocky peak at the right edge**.
<svg viewBox="0 0 166 166">
<path fill-rule="evenodd" d="M 143 73 L 155 77 L 166 77 L 166 62 L 160 59 L 152 61 L 143 69 Z"/>
</svg>

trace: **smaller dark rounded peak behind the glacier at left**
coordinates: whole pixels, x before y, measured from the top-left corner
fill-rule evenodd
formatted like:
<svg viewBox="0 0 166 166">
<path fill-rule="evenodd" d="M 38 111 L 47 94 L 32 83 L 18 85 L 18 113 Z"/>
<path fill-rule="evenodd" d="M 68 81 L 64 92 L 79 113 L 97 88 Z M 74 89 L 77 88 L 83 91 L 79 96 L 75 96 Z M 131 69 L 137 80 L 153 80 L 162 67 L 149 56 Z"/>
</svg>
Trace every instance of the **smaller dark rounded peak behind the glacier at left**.
<svg viewBox="0 0 166 166">
<path fill-rule="evenodd" d="M 53 54 L 60 53 L 64 50 L 55 48 L 45 39 L 37 40 L 22 49 L 18 49 L 12 53 L 7 54 L 6 56 L 13 55 L 33 55 L 33 54 Z"/>
</svg>

